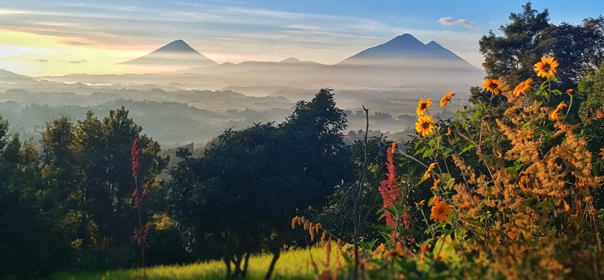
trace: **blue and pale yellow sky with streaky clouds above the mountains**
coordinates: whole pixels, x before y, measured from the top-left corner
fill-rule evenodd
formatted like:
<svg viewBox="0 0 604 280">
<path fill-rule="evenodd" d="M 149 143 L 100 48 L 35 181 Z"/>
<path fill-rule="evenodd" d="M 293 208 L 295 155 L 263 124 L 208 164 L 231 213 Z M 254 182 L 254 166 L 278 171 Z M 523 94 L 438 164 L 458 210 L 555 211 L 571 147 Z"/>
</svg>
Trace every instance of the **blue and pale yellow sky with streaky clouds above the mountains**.
<svg viewBox="0 0 604 280">
<path fill-rule="evenodd" d="M 580 23 L 604 1 L 531 1 Z M 580 3 L 580 4 L 579 4 Z M 122 74 L 117 63 L 182 39 L 217 63 L 334 64 L 403 33 L 480 66 L 478 40 L 526 0 L 2 0 L 0 69 L 29 76 Z"/>
</svg>

